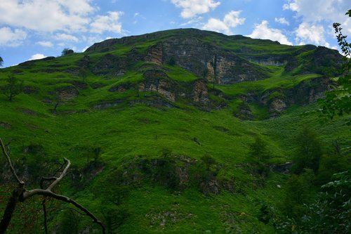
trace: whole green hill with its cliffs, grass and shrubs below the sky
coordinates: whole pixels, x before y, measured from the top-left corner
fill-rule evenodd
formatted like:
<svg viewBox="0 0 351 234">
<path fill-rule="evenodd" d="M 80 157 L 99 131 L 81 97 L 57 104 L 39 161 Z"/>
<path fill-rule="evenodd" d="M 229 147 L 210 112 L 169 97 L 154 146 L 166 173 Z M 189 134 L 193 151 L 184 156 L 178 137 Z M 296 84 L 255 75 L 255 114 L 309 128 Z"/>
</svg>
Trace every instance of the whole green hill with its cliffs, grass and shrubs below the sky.
<svg viewBox="0 0 351 234">
<path fill-rule="evenodd" d="M 0 100 L 0 136 L 27 184 L 71 160 L 56 190 L 110 233 L 296 233 L 305 216 L 326 219 L 314 214 L 317 197 L 345 216 L 328 226 L 340 233 L 350 204 L 325 202 L 350 186 L 347 174 L 332 178 L 350 170 L 347 116 L 320 125 L 317 113 L 301 114 L 317 108 L 341 57 L 200 30 L 109 39 L 1 69 L 0 86 L 12 75 L 24 83 Z M 6 201 L 11 178 L 0 170 Z M 65 204 L 47 205 L 49 230 L 99 230 Z M 8 232 L 42 232 L 41 213 L 40 200 L 23 204 Z"/>
</svg>

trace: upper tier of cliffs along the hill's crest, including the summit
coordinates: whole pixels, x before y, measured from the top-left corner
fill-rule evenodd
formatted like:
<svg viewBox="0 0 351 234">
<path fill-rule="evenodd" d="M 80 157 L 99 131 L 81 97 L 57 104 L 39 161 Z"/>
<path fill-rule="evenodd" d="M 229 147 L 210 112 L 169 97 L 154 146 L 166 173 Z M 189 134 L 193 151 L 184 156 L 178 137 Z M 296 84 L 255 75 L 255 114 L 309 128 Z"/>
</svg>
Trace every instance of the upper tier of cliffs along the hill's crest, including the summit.
<svg viewBox="0 0 351 234">
<path fill-rule="evenodd" d="M 145 51 L 134 46 L 150 42 Z M 132 47 L 126 56 L 109 56 L 116 46 Z M 324 74 L 326 68 L 338 68 L 342 56 L 322 46 L 286 46 L 277 41 L 226 36 L 194 29 L 169 30 L 121 39 L 108 39 L 94 44 L 87 53 L 107 53 L 93 67 L 94 74 L 124 74 L 131 61 L 165 65 L 173 63 L 203 77 L 208 82 L 234 84 L 270 77 L 265 66 L 284 67 L 285 72 Z M 298 69 L 298 70 L 297 70 Z M 336 71 L 333 74 L 337 74 Z"/>
</svg>

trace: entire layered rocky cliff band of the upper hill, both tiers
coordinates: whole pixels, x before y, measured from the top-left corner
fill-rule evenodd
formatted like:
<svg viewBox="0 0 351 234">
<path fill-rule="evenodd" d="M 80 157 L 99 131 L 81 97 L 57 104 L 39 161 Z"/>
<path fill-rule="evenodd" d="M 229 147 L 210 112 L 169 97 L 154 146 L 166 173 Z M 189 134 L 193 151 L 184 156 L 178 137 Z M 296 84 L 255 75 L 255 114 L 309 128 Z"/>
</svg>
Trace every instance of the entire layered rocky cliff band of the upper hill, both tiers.
<svg viewBox="0 0 351 234">
<path fill-rule="evenodd" d="M 140 46 L 143 43 L 144 46 Z M 118 84 L 109 89 L 111 92 L 133 89 L 138 91 L 138 96 L 157 93 L 164 98 L 164 103 L 168 103 L 167 106 L 178 100 L 187 100 L 205 110 L 223 108 L 232 99 L 240 98 L 243 103 L 239 105 L 238 113 L 247 119 L 254 118 L 250 103 L 267 108 L 269 117 L 277 117 L 292 104 L 312 103 L 323 97 L 324 91 L 329 89 L 329 79 L 324 78 L 325 75 L 337 76 L 342 63 L 338 51 L 322 46 L 286 46 L 277 41 L 194 29 L 108 39 L 88 48 L 86 55 L 96 52 L 102 56 L 93 61 L 84 56 L 79 62 L 95 75 L 119 78 L 124 77 L 128 70 L 143 72 L 141 82 Z M 138 63 L 143 63 L 143 66 L 135 68 Z M 168 76 L 167 65 L 181 67 L 198 79 L 176 82 Z M 263 93 L 248 92 L 241 96 L 225 96 L 218 90 L 208 89 L 210 84 L 214 87 L 260 81 L 272 77 L 277 71 L 290 77 L 322 76 L 293 84 L 289 89 L 270 87 Z"/>
</svg>

